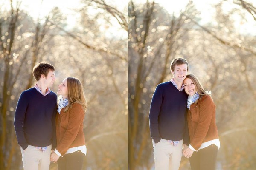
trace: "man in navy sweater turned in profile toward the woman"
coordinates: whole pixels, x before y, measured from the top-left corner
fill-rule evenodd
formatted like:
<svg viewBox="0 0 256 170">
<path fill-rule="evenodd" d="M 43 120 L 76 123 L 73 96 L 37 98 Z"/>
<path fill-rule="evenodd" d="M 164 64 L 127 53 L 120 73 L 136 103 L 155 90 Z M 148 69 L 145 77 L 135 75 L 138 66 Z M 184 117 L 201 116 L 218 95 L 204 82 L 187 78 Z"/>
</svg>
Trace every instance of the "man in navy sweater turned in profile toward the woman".
<svg viewBox="0 0 256 170">
<path fill-rule="evenodd" d="M 55 68 L 38 63 L 33 68 L 35 87 L 20 94 L 14 127 L 24 170 L 49 170 L 51 149 L 56 147 L 57 95 L 50 90 Z"/>
</svg>

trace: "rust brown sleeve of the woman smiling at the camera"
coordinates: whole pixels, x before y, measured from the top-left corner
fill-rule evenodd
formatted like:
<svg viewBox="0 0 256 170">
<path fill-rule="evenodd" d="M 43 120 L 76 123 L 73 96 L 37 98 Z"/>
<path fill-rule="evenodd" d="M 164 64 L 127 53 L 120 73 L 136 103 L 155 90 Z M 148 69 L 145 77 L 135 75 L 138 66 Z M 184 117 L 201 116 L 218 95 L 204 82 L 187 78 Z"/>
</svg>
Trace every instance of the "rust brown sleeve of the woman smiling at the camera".
<svg viewBox="0 0 256 170">
<path fill-rule="evenodd" d="M 209 130 L 209 126 L 212 120 L 212 107 L 213 101 L 210 97 L 202 99 L 200 104 L 199 122 L 190 143 L 195 150 L 198 150 L 200 148 Z"/>
</svg>

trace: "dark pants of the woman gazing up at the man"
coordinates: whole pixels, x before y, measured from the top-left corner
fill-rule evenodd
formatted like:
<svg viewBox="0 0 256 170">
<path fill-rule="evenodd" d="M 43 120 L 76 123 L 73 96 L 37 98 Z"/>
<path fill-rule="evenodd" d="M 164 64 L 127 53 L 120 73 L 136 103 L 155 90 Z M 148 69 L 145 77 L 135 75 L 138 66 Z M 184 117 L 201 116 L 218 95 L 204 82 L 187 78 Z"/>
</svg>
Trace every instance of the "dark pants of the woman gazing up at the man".
<svg viewBox="0 0 256 170">
<path fill-rule="evenodd" d="M 84 153 L 78 150 L 73 153 L 65 154 L 57 161 L 58 170 L 81 170 L 84 161 Z"/>
</svg>

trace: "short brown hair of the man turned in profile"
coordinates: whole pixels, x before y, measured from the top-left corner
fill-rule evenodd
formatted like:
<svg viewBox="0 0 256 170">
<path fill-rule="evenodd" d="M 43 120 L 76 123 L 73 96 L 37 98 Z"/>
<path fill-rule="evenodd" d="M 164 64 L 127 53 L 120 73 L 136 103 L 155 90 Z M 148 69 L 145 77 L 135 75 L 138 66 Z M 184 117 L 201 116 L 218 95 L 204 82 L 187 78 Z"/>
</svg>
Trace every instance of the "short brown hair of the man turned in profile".
<svg viewBox="0 0 256 170">
<path fill-rule="evenodd" d="M 38 81 L 41 78 L 41 74 L 44 74 L 44 76 L 47 76 L 49 71 L 55 71 L 55 68 L 53 65 L 45 62 L 40 62 L 33 68 L 33 75 L 35 77 L 35 80 Z"/>
</svg>

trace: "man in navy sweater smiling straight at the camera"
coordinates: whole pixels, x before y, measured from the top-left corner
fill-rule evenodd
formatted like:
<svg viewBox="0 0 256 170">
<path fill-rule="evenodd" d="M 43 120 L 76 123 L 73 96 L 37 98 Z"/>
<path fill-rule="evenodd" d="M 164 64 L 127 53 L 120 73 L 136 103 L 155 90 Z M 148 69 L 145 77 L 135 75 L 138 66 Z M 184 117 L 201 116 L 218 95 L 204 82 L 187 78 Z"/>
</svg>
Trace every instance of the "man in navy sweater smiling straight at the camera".
<svg viewBox="0 0 256 170">
<path fill-rule="evenodd" d="M 155 170 L 178 170 L 183 143 L 185 147 L 189 144 L 187 95 L 183 90 L 188 67 L 186 59 L 173 59 L 170 67 L 173 78 L 157 85 L 152 97 L 149 125 Z"/>
</svg>

